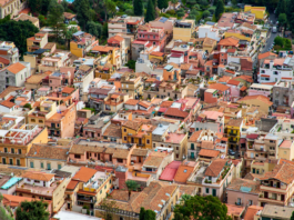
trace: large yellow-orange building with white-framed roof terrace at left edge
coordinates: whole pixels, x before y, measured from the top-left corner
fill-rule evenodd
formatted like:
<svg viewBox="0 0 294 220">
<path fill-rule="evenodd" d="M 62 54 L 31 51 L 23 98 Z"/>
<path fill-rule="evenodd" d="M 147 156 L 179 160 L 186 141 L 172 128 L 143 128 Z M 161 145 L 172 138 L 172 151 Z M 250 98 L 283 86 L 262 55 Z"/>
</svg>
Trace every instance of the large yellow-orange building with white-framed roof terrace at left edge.
<svg viewBox="0 0 294 220">
<path fill-rule="evenodd" d="M 0 141 L 0 160 L 2 164 L 28 167 L 27 153 L 33 143 L 47 143 L 48 130 L 34 126 L 16 126 L 9 130 L 2 130 L 6 136 Z"/>
</svg>

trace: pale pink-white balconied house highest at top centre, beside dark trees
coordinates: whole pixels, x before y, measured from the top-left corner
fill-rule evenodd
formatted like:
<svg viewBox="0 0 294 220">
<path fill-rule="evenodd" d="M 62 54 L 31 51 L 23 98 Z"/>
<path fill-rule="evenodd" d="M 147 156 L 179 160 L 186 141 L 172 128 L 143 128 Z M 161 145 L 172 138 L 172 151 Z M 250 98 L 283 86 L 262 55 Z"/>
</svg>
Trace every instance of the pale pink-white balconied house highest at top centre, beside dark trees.
<svg viewBox="0 0 294 220">
<path fill-rule="evenodd" d="M 136 28 L 143 22 L 144 17 L 121 16 L 110 19 L 108 22 L 109 37 L 111 38 L 118 33 L 135 36 Z"/>
</svg>

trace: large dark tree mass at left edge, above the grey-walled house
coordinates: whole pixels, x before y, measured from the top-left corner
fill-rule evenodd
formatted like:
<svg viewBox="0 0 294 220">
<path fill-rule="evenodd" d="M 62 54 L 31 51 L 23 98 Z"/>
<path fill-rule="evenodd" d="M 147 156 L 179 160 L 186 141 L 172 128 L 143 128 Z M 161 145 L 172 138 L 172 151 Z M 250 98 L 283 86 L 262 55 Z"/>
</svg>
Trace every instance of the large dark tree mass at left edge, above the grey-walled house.
<svg viewBox="0 0 294 220">
<path fill-rule="evenodd" d="M 34 36 L 39 29 L 31 21 L 9 20 L 0 24 L 0 39 L 12 41 L 23 54 L 27 52 L 27 39 Z"/>
</svg>

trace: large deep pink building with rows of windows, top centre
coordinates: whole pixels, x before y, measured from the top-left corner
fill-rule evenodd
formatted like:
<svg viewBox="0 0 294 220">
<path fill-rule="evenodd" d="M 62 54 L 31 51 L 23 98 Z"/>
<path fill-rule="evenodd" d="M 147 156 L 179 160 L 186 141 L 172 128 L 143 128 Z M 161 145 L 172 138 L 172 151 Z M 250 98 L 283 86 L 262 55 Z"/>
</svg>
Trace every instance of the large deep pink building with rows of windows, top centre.
<svg viewBox="0 0 294 220">
<path fill-rule="evenodd" d="M 139 26 L 136 39 L 150 42 L 153 46 L 159 46 L 160 51 L 163 52 L 166 44 L 166 36 L 163 28 L 152 28 L 151 24 Z"/>
</svg>

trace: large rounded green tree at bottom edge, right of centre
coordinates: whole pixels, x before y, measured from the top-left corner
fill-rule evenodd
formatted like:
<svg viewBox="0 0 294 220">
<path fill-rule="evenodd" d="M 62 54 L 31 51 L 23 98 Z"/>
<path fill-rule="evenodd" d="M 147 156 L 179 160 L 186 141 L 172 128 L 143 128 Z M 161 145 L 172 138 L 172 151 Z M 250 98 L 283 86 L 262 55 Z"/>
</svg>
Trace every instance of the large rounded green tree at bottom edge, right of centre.
<svg viewBox="0 0 294 220">
<path fill-rule="evenodd" d="M 227 208 L 219 198 L 194 196 L 175 206 L 174 220 L 231 220 Z"/>
</svg>

